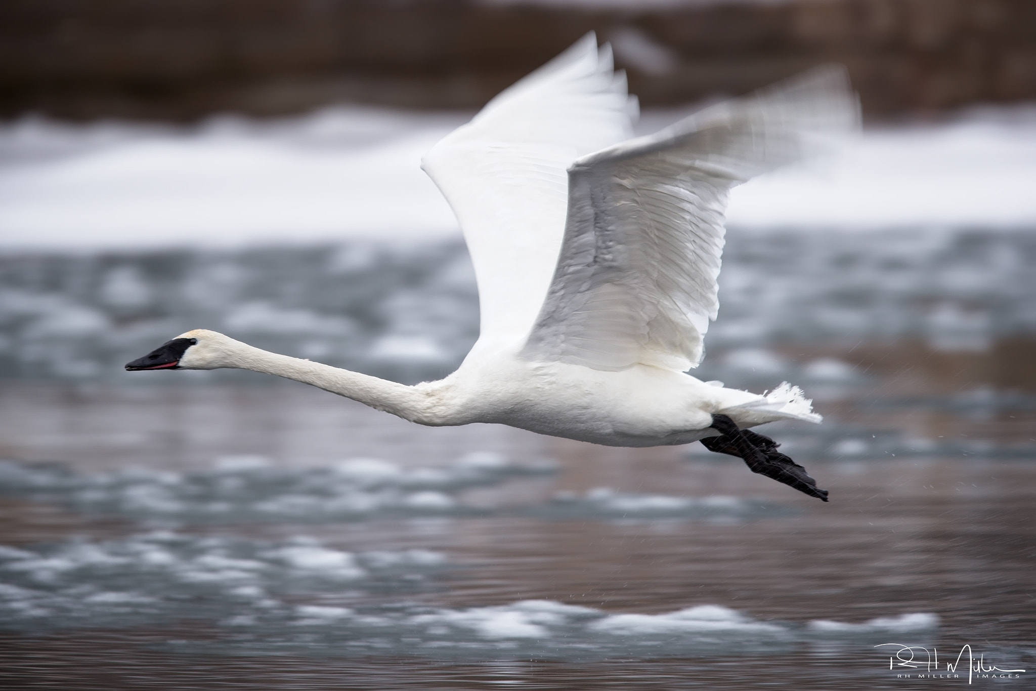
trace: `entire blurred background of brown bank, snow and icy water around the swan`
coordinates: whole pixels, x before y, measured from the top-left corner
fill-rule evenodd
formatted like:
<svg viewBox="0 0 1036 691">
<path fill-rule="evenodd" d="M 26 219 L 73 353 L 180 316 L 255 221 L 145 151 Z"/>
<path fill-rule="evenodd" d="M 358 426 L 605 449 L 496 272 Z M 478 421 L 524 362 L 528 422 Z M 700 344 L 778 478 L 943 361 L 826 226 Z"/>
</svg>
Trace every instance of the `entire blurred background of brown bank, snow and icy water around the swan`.
<svg viewBox="0 0 1036 691">
<path fill-rule="evenodd" d="M 862 137 L 736 190 L 694 372 L 801 384 L 825 424 L 762 431 L 830 506 L 699 444 L 424 429 L 246 372 L 122 371 L 205 327 L 408 383 L 451 372 L 478 293 L 421 155 L 591 30 L 639 133 L 848 68 Z M 1028 0 L 7 0 L 0 676 L 893 688 L 871 647 L 893 633 L 1031 668 L 1034 294 Z M 694 606 L 719 609 L 667 614 Z M 735 649 L 742 671 L 714 664 Z"/>
</svg>

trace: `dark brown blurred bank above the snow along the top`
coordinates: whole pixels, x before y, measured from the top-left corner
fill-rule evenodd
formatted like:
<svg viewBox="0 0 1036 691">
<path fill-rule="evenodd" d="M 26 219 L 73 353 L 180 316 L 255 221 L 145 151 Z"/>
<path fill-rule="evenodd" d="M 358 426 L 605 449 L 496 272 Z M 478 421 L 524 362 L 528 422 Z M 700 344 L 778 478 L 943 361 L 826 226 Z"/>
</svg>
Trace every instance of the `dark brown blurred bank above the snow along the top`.
<svg viewBox="0 0 1036 691">
<path fill-rule="evenodd" d="M 829 60 L 872 117 L 1036 98 L 1033 0 L 4 0 L 0 116 L 474 108 L 591 29 L 646 105 Z"/>
</svg>

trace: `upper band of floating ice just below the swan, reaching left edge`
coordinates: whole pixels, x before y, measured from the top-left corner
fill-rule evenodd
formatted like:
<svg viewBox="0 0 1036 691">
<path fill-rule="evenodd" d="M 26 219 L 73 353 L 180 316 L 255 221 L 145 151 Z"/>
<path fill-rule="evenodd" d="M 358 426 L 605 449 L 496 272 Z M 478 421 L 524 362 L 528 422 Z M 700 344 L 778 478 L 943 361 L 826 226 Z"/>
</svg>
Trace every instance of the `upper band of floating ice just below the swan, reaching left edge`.
<svg viewBox="0 0 1036 691">
<path fill-rule="evenodd" d="M 512 479 L 547 477 L 551 461 L 514 463 L 472 452 L 444 466 L 403 468 L 374 458 L 285 467 L 258 456 L 217 459 L 194 472 L 125 467 L 77 472 L 57 464 L 0 461 L 0 494 L 92 513 L 181 522 L 376 520 L 420 516 L 525 515 L 546 519 L 752 520 L 783 515 L 772 501 L 728 495 L 681 496 L 616 491 L 555 492 L 545 500 L 502 505 L 466 500 L 465 491 Z"/>
</svg>

